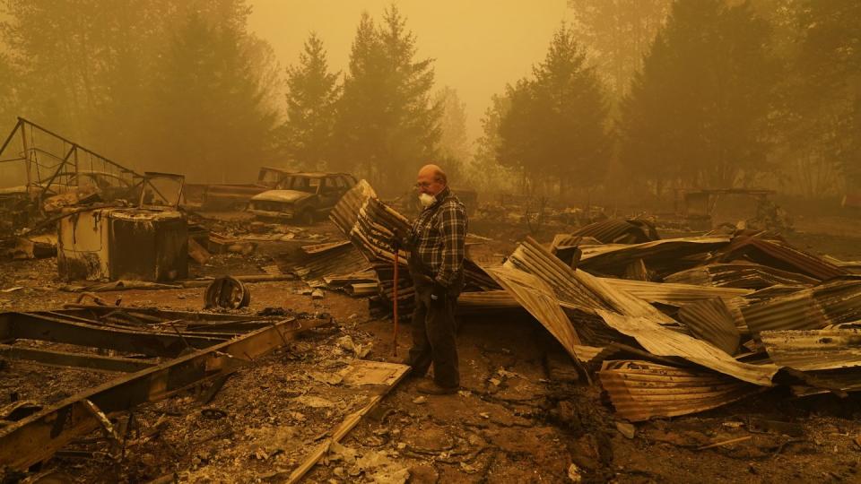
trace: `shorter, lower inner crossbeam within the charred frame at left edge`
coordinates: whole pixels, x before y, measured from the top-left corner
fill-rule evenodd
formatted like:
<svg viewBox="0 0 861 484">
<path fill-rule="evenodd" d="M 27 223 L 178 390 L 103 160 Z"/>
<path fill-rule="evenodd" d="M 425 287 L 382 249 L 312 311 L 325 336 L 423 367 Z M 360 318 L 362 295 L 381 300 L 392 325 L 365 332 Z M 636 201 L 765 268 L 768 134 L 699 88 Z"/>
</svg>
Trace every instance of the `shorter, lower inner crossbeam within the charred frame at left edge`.
<svg viewBox="0 0 861 484">
<path fill-rule="evenodd" d="M 144 368 L 154 367 L 155 363 L 144 359 L 106 357 L 85 353 L 51 351 L 37 348 L 24 348 L 0 344 L 0 356 L 8 359 L 22 359 L 52 367 L 79 367 L 100 371 L 134 373 Z"/>
</svg>

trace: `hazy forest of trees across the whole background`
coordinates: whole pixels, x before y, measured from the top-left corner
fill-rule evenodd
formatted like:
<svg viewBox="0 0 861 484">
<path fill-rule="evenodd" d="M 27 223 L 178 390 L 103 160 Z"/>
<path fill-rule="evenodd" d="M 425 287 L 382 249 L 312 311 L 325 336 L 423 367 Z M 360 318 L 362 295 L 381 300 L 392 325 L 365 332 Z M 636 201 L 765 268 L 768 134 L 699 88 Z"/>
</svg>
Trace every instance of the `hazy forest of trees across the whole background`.
<svg viewBox="0 0 861 484">
<path fill-rule="evenodd" d="M 281 166 L 350 171 L 395 194 L 437 160 L 480 194 L 861 189 L 858 0 L 568 8 L 473 140 L 457 86 L 435 81 L 434 52 L 418 51 L 396 4 L 356 18 L 335 71 L 313 33 L 299 58 L 276 59 L 244 0 L 0 0 L 0 131 L 26 117 L 195 182 Z"/>
</svg>

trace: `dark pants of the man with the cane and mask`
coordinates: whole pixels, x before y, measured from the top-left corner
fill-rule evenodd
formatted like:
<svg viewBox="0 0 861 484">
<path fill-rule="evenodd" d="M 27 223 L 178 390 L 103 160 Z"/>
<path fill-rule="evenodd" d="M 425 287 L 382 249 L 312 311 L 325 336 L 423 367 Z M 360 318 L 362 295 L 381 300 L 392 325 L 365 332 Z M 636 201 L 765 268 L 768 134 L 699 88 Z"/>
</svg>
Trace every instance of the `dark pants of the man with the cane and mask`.
<svg viewBox="0 0 861 484">
<path fill-rule="evenodd" d="M 457 323 L 455 307 L 458 294 L 440 296 L 431 300 L 433 287 L 415 285 L 415 310 L 413 311 L 413 348 L 408 363 L 413 375 L 424 376 L 433 363 L 433 379 L 439 386 L 460 386 L 457 365 Z"/>
</svg>

